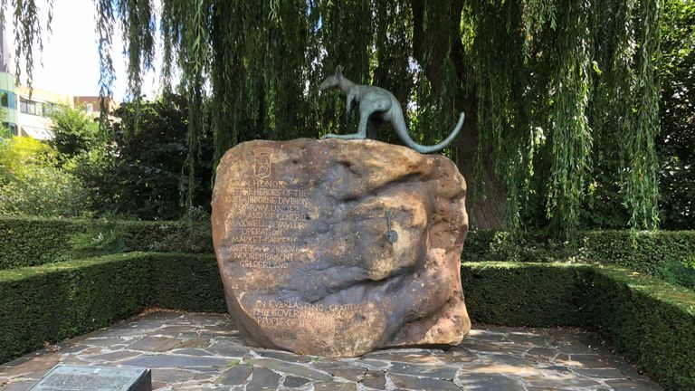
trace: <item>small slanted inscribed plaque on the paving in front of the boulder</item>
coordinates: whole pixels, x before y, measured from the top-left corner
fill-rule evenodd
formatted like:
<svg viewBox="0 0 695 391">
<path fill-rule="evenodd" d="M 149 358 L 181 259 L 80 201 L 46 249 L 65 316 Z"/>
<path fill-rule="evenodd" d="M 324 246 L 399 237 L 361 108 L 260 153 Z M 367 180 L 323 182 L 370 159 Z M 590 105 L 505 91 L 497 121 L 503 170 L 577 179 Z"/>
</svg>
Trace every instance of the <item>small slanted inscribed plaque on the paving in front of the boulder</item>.
<svg viewBox="0 0 695 391">
<path fill-rule="evenodd" d="M 150 370 L 141 367 L 57 365 L 29 391 L 151 391 Z"/>
</svg>

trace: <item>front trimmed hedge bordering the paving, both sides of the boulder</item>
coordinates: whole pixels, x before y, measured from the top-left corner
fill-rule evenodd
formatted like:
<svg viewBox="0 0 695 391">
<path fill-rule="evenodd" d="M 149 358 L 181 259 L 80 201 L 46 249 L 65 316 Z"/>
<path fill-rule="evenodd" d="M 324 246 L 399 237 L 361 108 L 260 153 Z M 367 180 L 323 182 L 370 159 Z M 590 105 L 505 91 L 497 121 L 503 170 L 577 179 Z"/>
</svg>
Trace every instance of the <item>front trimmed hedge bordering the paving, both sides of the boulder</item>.
<svg viewBox="0 0 695 391">
<path fill-rule="evenodd" d="M 669 389 L 695 389 L 695 292 L 614 266 L 466 262 L 475 322 L 595 329 Z M 147 307 L 226 311 L 212 255 L 126 253 L 0 271 L 0 363 Z"/>
</svg>

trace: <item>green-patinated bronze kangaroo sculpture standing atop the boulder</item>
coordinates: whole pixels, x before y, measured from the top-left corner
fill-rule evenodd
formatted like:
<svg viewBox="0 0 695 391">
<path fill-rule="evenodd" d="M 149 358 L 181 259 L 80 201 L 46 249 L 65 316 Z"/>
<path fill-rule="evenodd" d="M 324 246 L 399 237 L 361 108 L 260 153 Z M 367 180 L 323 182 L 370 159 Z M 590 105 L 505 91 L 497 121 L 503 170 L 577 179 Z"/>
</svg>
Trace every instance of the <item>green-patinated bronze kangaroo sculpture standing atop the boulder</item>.
<svg viewBox="0 0 695 391">
<path fill-rule="evenodd" d="M 343 76 L 343 69 L 338 65 L 336 73 L 328 76 L 326 80 L 319 85 L 319 91 L 329 89 L 340 89 L 345 93 L 348 100 L 346 108 L 346 119 L 349 118 L 350 111 L 354 105 L 359 107 L 359 126 L 357 133 L 347 135 L 337 135 L 329 133 L 321 138 L 341 138 L 341 139 L 364 139 L 376 138 L 376 128 L 380 123 L 388 122 L 395 129 L 395 134 L 405 142 L 405 144 L 420 153 L 432 153 L 448 146 L 453 138 L 459 134 L 463 126 L 463 112 L 459 117 L 459 122 L 452 130 L 449 137 L 445 138 L 441 143 L 433 146 L 424 146 L 416 143 L 408 134 L 408 129 L 405 126 L 405 118 L 401 104 L 395 99 L 394 94 L 376 86 L 359 85 L 353 81 L 349 81 Z"/>
</svg>

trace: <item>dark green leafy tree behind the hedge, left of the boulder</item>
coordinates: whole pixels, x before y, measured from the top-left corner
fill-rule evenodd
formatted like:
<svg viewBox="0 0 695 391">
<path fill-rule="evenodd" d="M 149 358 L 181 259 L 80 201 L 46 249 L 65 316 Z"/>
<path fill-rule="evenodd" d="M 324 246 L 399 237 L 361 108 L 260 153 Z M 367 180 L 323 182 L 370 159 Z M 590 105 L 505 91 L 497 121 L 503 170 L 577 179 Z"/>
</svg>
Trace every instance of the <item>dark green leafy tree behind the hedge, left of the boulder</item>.
<svg viewBox="0 0 695 391">
<path fill-rule="evenodd" d="M 139 110 L 138 132 L 135 127 Z M 116 111 L 112 137 L 99 157 L 77 170 L 92 194 L 92 208 L 100 215 L 121 215 L 142 220 L 176 220 L 186 214 L 209 213 L 213 148 L 200 141 L 195 163 L 195 189 L 189 208 L 183 175 L 186 157 L 186 99 L 165 94 L 151 102 L 126 103 Z M 205 122 L 205 116 L 203 121 Z M 191 210 L 190 208 L 194 208 Z"/>
</svg>

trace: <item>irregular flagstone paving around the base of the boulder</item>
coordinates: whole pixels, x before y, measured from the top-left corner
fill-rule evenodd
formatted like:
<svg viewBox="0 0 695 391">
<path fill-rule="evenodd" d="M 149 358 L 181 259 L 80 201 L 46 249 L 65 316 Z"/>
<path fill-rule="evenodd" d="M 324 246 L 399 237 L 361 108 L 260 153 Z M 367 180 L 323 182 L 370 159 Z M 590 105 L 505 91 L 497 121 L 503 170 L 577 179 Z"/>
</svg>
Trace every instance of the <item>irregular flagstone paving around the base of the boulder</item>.
<svg viewBox="0 0 695 391">
<path fill-rule="evenodd" d="M 477 326 L 459 346 L 319 358 L 250 348 L 219 314 L 139 315 L 0 366 L 0 390 L 25 391 L 58 363 L 152 368 L 168 390 L 661 391 L 576 329 Z"/>
</svg>

